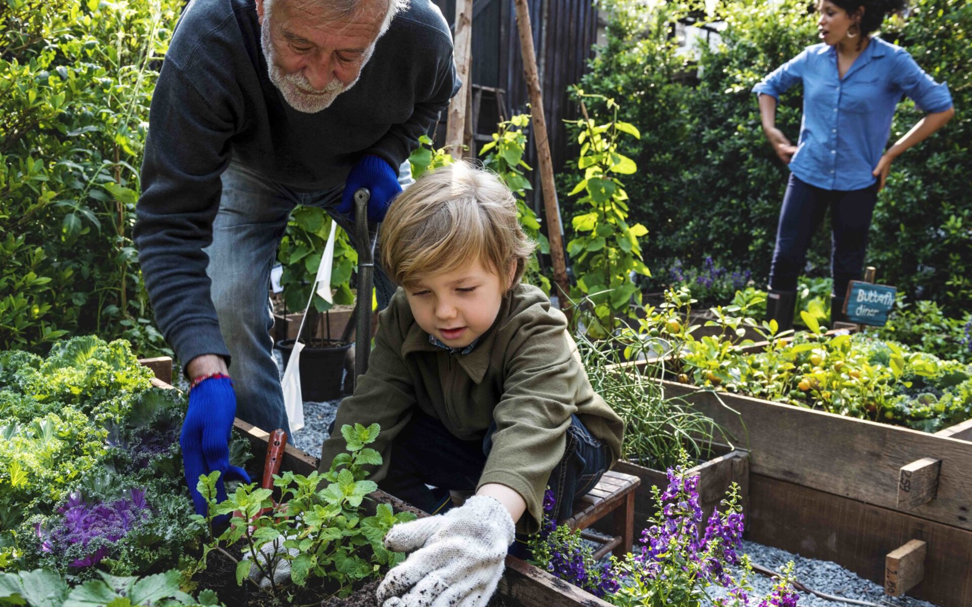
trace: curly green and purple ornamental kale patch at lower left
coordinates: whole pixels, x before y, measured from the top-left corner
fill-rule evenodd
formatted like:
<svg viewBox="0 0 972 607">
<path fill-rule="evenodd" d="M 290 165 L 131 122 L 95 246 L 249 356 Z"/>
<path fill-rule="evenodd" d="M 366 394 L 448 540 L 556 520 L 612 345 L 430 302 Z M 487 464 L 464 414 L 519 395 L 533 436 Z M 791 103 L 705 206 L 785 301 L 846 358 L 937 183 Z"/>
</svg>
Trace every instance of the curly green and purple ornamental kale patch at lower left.
<svg viewBox="0 0 972 607">
<path fill-rule="evenodd" d="M 186 398 L 151 378 L 122 340 L 0 353 L 0 568 L 84 581 L 160 571 L 201 548 L 179 448 Z M 245 441 L 230 453 L 242 465 Z"/>
</svg>

